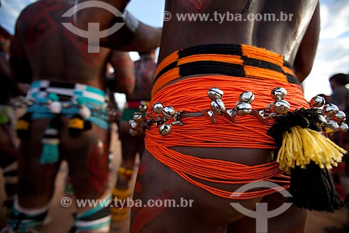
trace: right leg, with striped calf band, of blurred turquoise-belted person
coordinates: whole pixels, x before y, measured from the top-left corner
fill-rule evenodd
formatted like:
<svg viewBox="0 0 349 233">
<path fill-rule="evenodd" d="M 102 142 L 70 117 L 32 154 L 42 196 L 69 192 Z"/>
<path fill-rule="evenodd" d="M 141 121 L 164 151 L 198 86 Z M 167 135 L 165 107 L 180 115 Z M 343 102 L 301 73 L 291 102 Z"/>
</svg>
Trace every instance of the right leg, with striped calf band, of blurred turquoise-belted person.
<svg viewBox="0 0 349 233">
<path fill-rule="evenodd" d="M 68 124 L 64 122 L 64 125 Z M 96 125 L 76 138 L 61 130 L 61 148 L 69 166 L 75 197 L 79 202 L 71 232 L 109 232 L 110 194 L 107 191 L 110 132 Z M 95 203 L 95 204 L 93 204 Z"/>
</svg>

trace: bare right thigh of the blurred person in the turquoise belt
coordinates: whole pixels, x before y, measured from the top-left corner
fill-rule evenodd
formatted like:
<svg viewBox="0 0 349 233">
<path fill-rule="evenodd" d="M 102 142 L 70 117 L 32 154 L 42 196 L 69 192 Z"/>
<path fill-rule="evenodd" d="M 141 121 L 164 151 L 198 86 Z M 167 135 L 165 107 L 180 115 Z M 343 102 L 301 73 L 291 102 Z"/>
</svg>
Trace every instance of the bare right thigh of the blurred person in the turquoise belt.
<svg viewBox="0 0 349 233">
<path fill-rule="evenodd" d="M 65 122 L 66 124 L 66 122 Z M 97 199 L 107 189 L 110 130 L 96 125 L 76 138 L 66 125 L 61 130 L 61 151 L 68 162 L 77 199 Z"/>
</svg>

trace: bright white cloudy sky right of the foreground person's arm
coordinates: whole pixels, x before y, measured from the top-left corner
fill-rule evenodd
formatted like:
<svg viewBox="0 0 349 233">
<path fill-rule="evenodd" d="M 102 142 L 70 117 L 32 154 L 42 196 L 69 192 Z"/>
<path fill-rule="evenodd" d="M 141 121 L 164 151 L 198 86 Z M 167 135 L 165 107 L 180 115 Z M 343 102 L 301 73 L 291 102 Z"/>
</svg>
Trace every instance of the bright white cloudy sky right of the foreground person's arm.
<svg viewBox="0 0 349 233">
<path fill-rule="evenodd" d="M 349 2 L 321 1 L 321 31 L 313 69 L 304 80 L 306 99 L 316 94 L 331 94 L 329 77 L 349 72 Z"/>
</svg>

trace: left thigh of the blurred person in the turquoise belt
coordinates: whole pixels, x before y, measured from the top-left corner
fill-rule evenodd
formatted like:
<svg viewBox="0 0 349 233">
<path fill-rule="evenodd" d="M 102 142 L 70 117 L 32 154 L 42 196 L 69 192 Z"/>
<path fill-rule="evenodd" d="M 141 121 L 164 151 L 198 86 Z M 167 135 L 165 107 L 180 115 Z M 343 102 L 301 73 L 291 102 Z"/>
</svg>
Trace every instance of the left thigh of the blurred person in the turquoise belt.
<svg viewBox="0 0 349 233">
<path fill-rule="evenodd" d="M 27 208 L 44 206 L 53 195 L 54 181 L 60 162 L 40 164 L 43 138 L 48 120 L 31 122 L 29 139 L 23 139 L 19 148 L 18 197 Z"/>
</svg>

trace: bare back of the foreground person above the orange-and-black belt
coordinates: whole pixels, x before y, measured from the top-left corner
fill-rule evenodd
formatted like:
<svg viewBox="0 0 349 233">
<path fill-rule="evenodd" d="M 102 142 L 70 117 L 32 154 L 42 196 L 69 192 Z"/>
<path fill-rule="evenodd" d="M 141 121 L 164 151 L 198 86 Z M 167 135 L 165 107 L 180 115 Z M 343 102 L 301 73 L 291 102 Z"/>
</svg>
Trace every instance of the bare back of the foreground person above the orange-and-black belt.
<svg viewBox="0 0 349 233">
<path fill-rule="evenodd" d="M 292 64 L 317 0 L 259 0 L 254 1 L 251 8 L 241 14 L 246 2 L 167 1 L 165 10 L 171 13 L 172 18 L 163 25 L 159 62 L 181 48 L 209 43 L 234 43 L 272 50 L 284 55 L 285 60 Z M 177 14 L 180 13 L 202 13 L 209 14 L 209 17 L 202 21 L 197 18 L 195 22 L 179 22 Z M 265 13 L 274 14 L 275 20 L 269 21 L 269 15 Z M 235 20 L 231 20 L 231 14 L 235 15 Z M 248 15 L 257 20 L 248 20 Z M 266 20 L 258 20 L 261 16 Z"/>
</svg>

